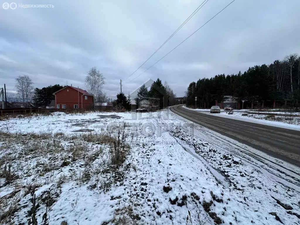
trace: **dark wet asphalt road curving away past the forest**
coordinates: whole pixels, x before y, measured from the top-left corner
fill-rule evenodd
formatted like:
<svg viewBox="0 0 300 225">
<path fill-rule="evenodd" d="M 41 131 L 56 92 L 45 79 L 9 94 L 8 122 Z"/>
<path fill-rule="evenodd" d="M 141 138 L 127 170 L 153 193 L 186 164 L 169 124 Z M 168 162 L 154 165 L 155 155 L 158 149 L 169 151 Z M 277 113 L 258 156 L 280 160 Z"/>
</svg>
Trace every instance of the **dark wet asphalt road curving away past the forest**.
<svg viewBox="0 0 300 225">
<path fill-rule="evenodd" d="M 300 131 L 260 125 L 185 109 L 171 111 L 219 134 L 300 167 Z"/>
</svg>

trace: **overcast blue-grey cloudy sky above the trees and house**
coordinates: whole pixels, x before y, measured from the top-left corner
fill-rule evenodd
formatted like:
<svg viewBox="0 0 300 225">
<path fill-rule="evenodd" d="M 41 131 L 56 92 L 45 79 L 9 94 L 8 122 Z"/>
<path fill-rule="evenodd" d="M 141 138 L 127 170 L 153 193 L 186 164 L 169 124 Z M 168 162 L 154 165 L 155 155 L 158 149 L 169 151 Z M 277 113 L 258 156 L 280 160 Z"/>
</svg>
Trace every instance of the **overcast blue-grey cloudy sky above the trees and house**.
<svg viewBox="0 0 300 225">
<path fill-rule="evenodd" d="M 7 90 L 13 91 L 15 78 L 28 74 L 39 88 L 54 84 L 85 88 L 86 73 L 96 66 L 106 77 L 109 97 L 120 91 L 120 79 L 122 91 L 128 93 L 158 77 L 181 97 L 189 83 L 199 78 L 243 72 L 249 66 L 300 53 L 299 0 L 235 0 L 135 78 L 230 1 L 209 0 L 128 78 L 202 0 L 16 0 L 17 5 L 54 7 L 15 10 L 4 10 L 1 0 L 0 87 L 6 83 Z"/>
</svg>

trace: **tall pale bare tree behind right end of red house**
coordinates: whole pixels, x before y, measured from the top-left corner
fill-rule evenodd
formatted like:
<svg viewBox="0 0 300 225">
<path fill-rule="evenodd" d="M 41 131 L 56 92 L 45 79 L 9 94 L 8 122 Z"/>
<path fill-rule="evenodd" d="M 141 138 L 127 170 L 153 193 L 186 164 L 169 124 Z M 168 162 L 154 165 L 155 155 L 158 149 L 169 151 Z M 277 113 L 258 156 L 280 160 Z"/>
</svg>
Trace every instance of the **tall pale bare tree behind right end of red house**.
<svg viewBox="0 0 300 225">
<path fill-rule="evenodd" d="M 105 83 L 105 77 L 95 66 L 88 71 L 88 75 L 85 77 L 85 87 L 94 95 L 94 101 L 98 95 L 103 93 L 102 88 Z"/>
</svg>

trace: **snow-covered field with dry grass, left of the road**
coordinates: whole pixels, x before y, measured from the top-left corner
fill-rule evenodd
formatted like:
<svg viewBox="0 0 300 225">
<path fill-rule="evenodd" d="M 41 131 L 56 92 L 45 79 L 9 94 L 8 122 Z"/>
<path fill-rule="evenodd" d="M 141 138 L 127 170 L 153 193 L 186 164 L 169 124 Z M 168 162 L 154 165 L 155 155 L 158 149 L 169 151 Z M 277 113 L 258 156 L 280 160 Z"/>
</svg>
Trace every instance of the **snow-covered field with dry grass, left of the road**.
<svg viewBox="0 0 300 225">
<path fill-rule="evenodd" d="M 169 110 L 53 114 L 0 121 L 1 224 L 300 224 L 298 167 Z"/>
</svg>

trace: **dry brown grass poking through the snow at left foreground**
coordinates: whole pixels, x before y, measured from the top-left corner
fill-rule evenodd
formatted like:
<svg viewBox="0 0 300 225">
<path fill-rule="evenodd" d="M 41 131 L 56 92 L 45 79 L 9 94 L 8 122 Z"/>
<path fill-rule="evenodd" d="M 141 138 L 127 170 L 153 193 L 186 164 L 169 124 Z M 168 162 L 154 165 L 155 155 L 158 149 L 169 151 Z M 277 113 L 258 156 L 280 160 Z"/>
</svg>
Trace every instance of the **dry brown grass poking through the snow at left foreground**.
<svg viewBox="0 0 300 225">
<path fill-rule="evenodd" d="M 11 222 L 17 218 L 16 214 L 26 213 L 24 205 L 21 207 L 18 202 L 24 197 L 28 198 L 29 193 L 45 184 L 55 185 L 59 192 L 62 184 L 73 181 L 74 185 L 88 184 L 90 190 L 96 189 L 104 193 L 114 185 L 122 185 L 125 170 L 128 169 L 123 164 L 130 151 L 125 129 L 126 125 L 119 126 L 117 135 L 96 132 L 69 135 L 48 131 L 0 131 L 0 178 L 3 178 L 0 179 L 0 187 L 7 186 L 13 189 L 12 193 L 19 193 L 16 197 L 1 197 L 1 222 Z M 26 207 L 33 207 L 32 214 L 29 215 L 31 224 L 35 224 L 38 216 L 43 216 L 38 213 L 38 204 L 49 203 L 39 202 L 41 197 L 31 196 L 31 202 L 29 200 L 26 204 Z M 43 222 L 48 221 L 50 208 L 47 207 L 44 207 L 47 212 Z M 129 217 L 134 216 L 129 209 L 128 206 L 123 207 L 118 214 L 127 211 Z M 34 214 L 37 216 L 33 216 Z M 18 218 L 19 223 L 22 218 Z"/>
</svg>

